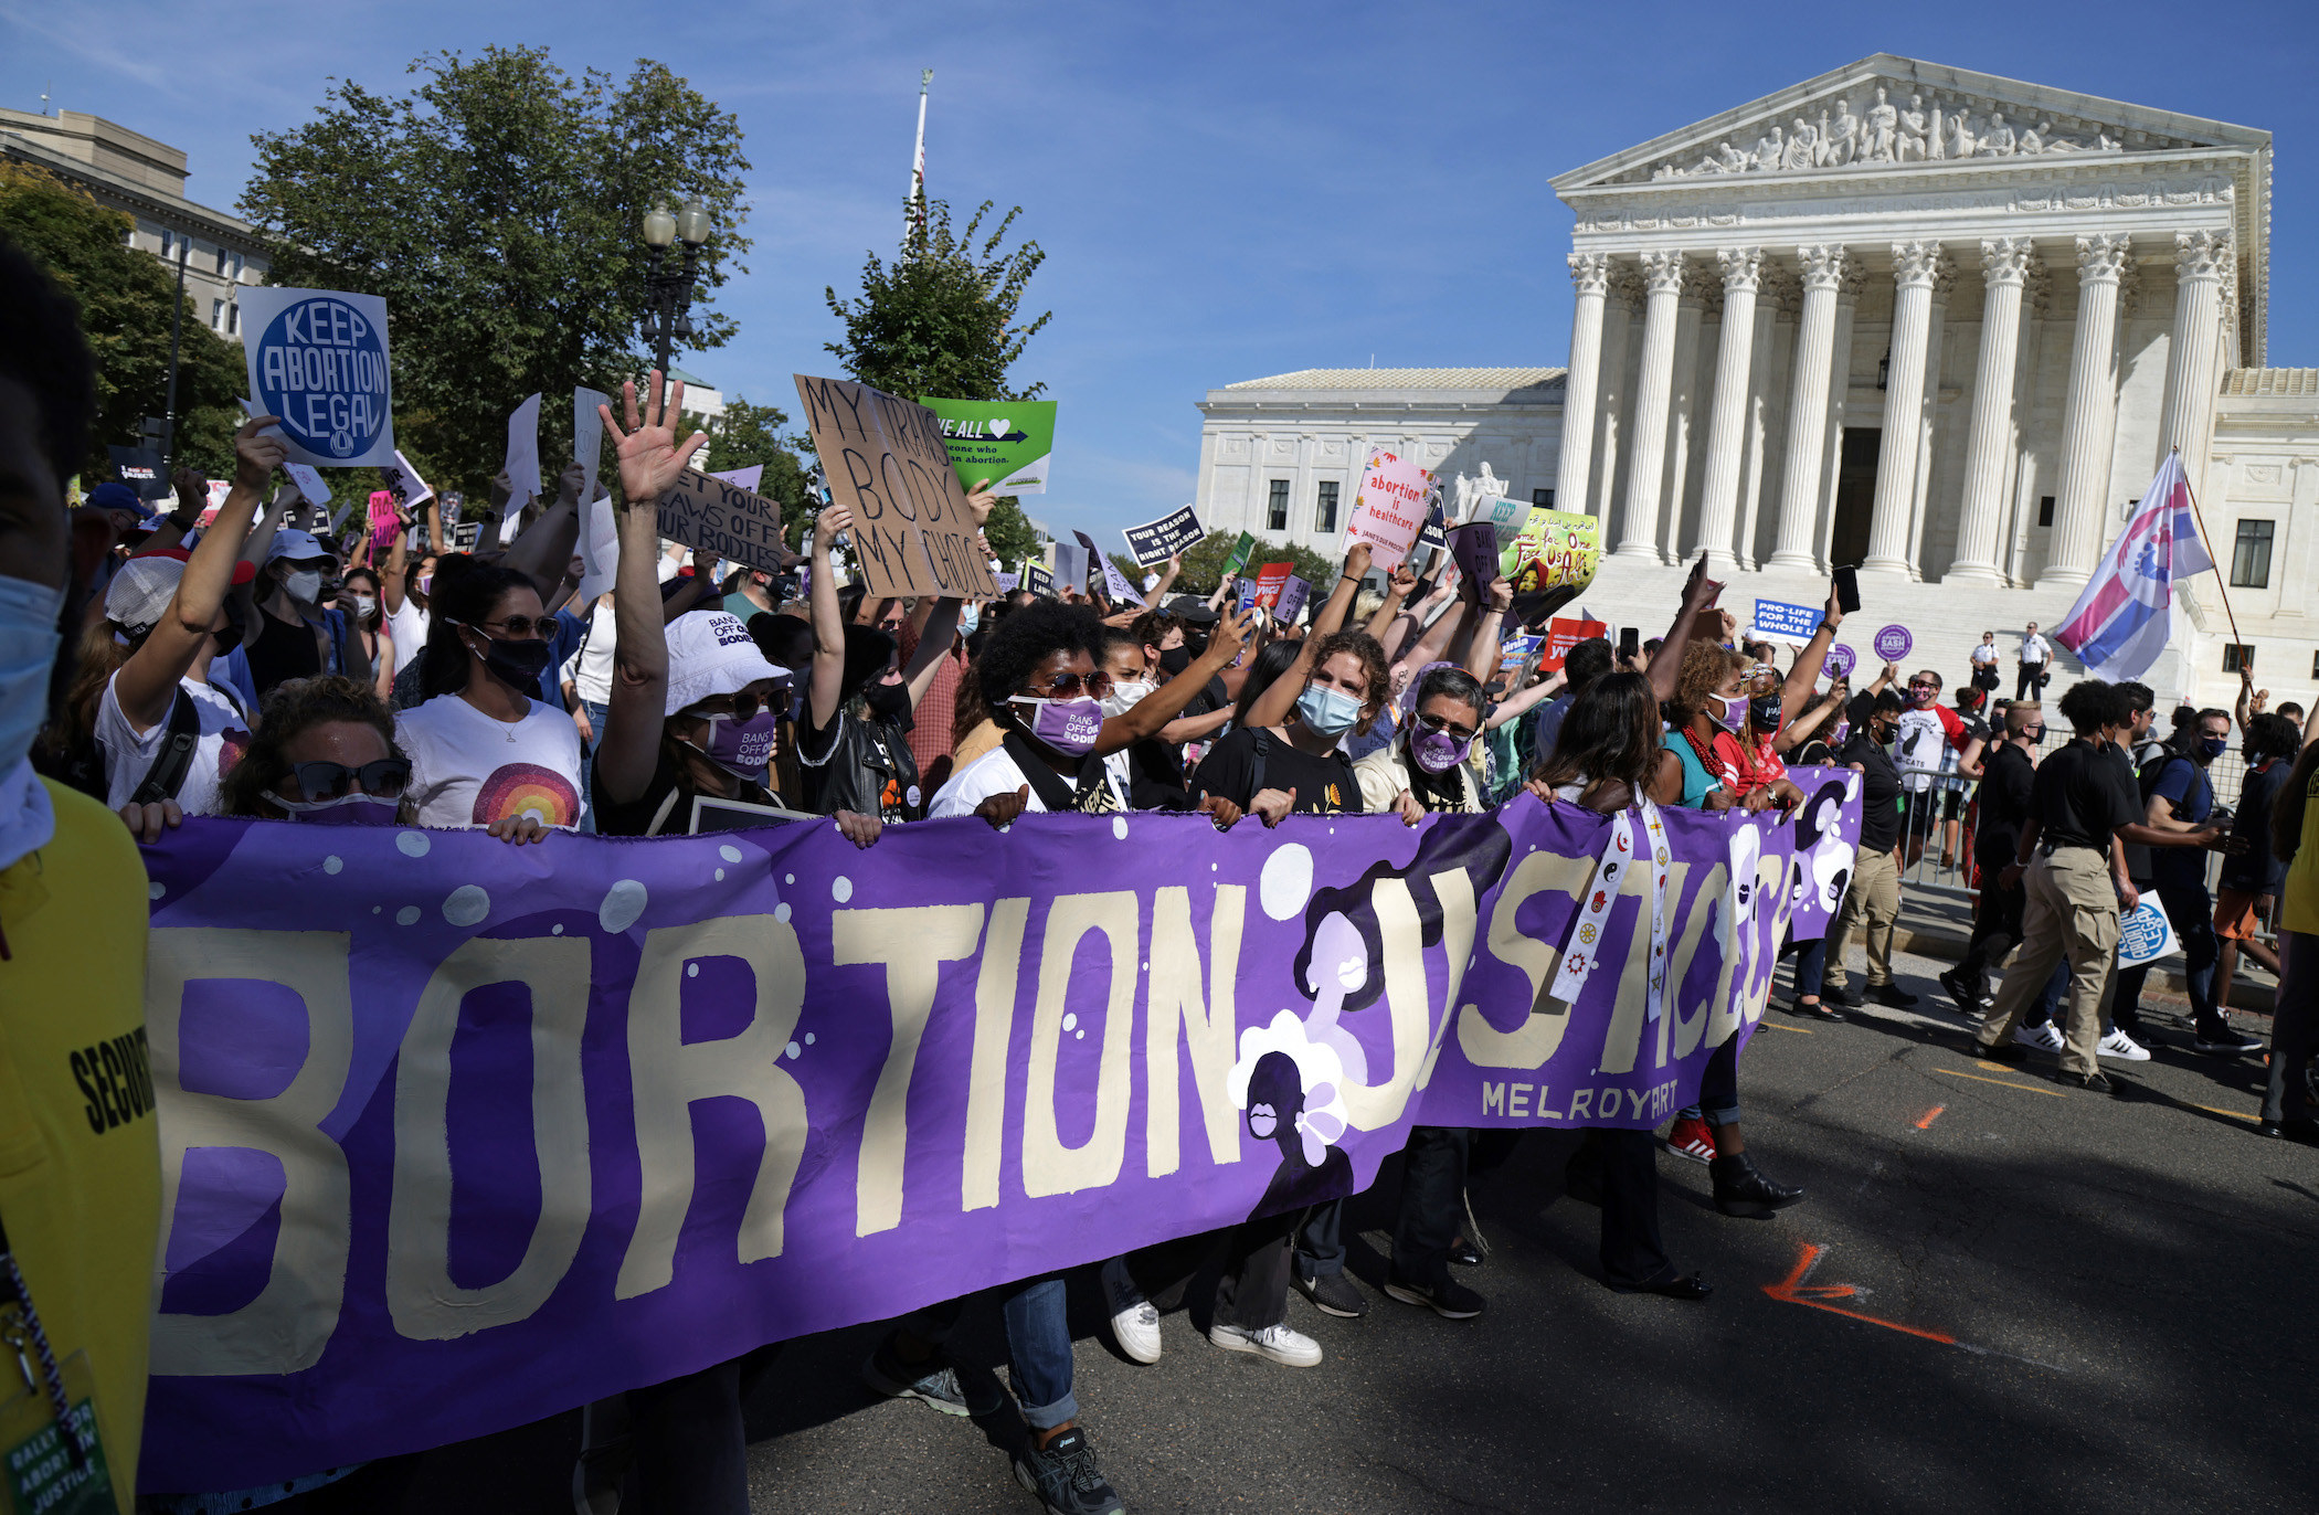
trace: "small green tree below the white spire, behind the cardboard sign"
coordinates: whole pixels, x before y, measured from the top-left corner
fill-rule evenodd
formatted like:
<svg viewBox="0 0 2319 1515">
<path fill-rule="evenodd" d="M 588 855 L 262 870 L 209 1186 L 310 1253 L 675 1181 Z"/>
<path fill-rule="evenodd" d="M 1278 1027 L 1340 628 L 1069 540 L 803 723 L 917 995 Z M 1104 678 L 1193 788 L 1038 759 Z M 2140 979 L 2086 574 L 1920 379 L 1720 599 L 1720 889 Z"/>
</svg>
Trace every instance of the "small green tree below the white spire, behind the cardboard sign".
<svg viewBox="0 0 2319 1515">
<path fill-rule="evenodd" d="M 1006 385 L 1006 369 L 1053 311 L 1018 325 L 1023 288 L 1046 262 L 1037 241 L 1002 253 L 1006 227 L 1023 206 L 1006 211 L 981 239 L 983 202 L 965 232 L 951 232 L 951 206 L 928 204 L 893 264 L 877 253 L 863 262 L 860 299 L 837 299 L 826 288 L 830 313 L 846 325 L 844 341 L 826 343 L 846 374 L 888 394 L 939 394 L 944 399 L 1037 399 L 1044 383 L 1027 390 Z"/>
</svg>

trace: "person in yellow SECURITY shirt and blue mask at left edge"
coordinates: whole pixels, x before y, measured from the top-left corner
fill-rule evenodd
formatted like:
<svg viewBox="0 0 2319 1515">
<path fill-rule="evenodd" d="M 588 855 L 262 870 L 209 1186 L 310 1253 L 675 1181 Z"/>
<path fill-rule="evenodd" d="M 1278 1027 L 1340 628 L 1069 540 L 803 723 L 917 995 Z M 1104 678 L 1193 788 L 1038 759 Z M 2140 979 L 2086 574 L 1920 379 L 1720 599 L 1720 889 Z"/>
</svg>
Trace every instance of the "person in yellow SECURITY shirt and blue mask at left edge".
<svg viewBox="0 0 2319 1515">
<path fill-rule="evenodd" d="M 60 629 L 79 631 L 97 571 L 95 554 L 72 557 L 83 543 L 65 510 L 93 413 L 74 299 L 0 241 L 0 1227 L 49 1355 L 90 1371 L 95 1445 L 81 1452 L 102 1452 L 111 1478 L 90 1494 L 97 1508 L 128 1510 L 160 1232 L 144 1065 L 146 877 L 121 821 L 28 761 L 32 735 L 63 717 L 51 710 L 51 673 L 72 657 Z M 223 592 L 223 564 L 216 582 Z M 128 1097 L 95 1123 L 90 1046 L 128 1053 L 116 1083 Z M 26 1318 L 23 1306 L 12 1313 Z M 46 1385 L 19 1399 L 19 1362 L 9 1350 L 12 1450 L 56 1427 L 60 1399 Z"/>
</svg>

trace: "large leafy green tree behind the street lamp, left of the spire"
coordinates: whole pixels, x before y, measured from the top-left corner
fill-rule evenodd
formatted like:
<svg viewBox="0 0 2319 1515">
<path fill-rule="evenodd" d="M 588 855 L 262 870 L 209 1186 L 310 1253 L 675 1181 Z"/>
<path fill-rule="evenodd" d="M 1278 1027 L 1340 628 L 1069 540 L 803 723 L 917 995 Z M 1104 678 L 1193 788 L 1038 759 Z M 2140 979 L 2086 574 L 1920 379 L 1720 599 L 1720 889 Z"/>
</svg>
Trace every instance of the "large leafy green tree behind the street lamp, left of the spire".
<svg viewBox="0 0 2319 1515">
<path fill-rule="evenodd" d="M 638 223 L 656 200 L 710 209 L 691 348 L 730 341 L 712 302 L 749 271 L 740 121 L 652 60 L 615 81 L 545 46 L 487 46 L 406 72 L 422 77 L 410 93 L 343 81 L 313 121 L 255 135 L 241 213 L 276 283 L 385 297 L 394 434 L 429 480 L 482 494 L 533 390 L 552 476 L 570 457 L 561 397 L 617 394 L 649 362 Z"/>
</svg>

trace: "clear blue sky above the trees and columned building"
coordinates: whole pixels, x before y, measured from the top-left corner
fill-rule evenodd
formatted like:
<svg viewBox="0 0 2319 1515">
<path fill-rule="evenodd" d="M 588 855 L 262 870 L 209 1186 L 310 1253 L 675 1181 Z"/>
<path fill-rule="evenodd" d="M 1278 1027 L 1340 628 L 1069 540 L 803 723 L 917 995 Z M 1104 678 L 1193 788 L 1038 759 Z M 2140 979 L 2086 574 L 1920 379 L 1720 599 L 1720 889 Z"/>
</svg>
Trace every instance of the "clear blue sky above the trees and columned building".
<svg viewBox="0 0 2319 1515">
<path fill-rule="evenodd" d="M 823 285 L 900 230 L 918 70 L 928 188 L 1020 204 L 1053 309 L 1018 380 L 1062 401 L 1048 527 L 1192 499 L 1208 387 L 1306 367 L 1558 364 L 1570 213 L 1547 179 L 1876 51 L 2275 135 L 2270 362 L 2319 364 L 2319 5 L 278 5 L 0 0 L 0 104 L 183 146 L 232 206 L 255 130 L 427 51 L 652 56 L 740 116 L 740 339 L 679 362 L 795 411 L 835 371 Z M 508 397 L 519 399 L 519 397 Z"/>
</svg>

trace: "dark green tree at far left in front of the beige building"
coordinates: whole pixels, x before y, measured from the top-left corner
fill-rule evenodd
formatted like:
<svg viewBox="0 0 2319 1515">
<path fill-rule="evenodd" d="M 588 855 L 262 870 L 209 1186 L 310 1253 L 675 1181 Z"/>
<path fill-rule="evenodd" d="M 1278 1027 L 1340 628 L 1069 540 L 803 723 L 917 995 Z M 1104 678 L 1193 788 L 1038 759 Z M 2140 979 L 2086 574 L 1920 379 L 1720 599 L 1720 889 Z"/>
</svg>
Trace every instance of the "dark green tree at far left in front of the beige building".
<svg viewBox="0 0 2319 1515">
<path fill-rule="evenodd" d="M 0 237 L 23 248 L 81 309 L 81 332 L 97 360 L 97 425 L 81 485 L 114 478 L 107 445 L 135 445 L 146 415 L 169 397 L 169 306 L 176 274 L 128 244 L 135 223 L 74 183 L 0 162 Z M 176 457 L 211 478 L 230 478 L 243 387 L 241 343 L 209 329 L 183 302 L 176 371 Z"/>
</svg>

